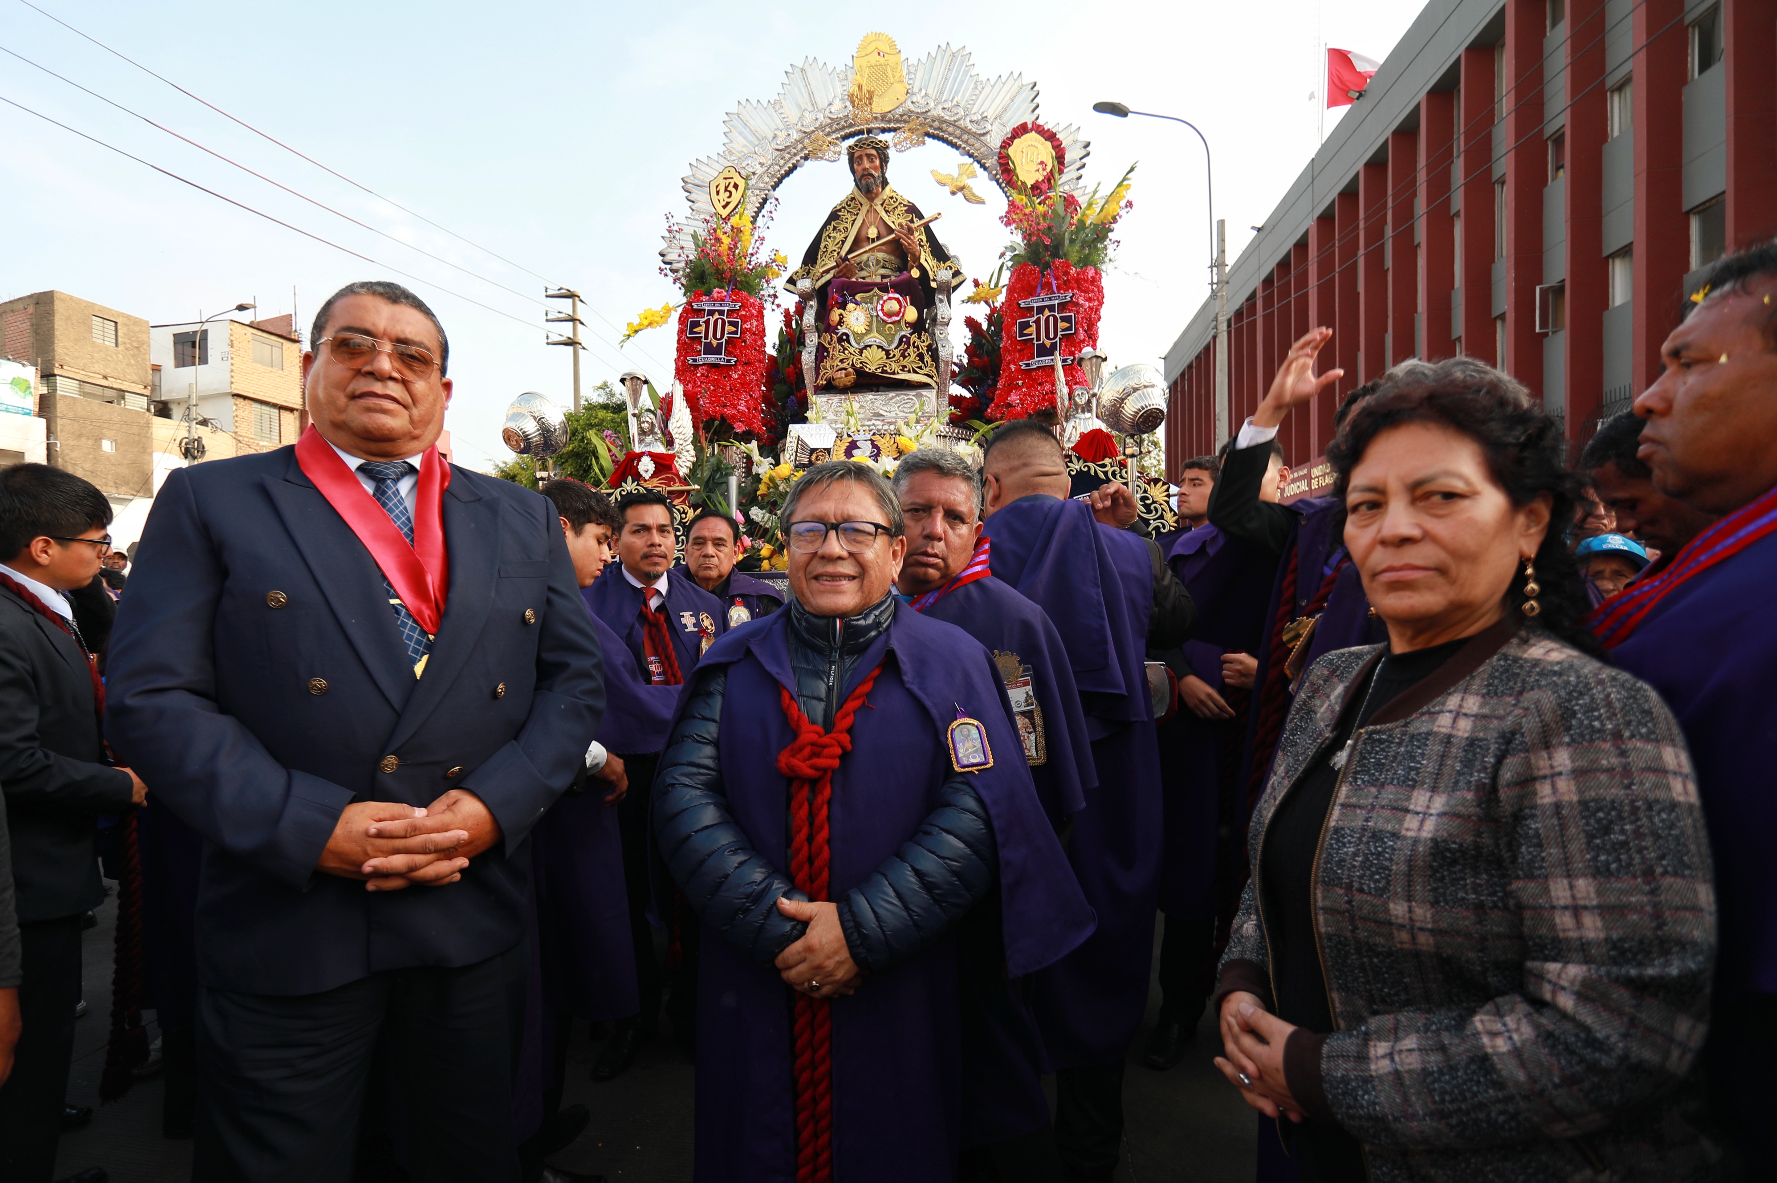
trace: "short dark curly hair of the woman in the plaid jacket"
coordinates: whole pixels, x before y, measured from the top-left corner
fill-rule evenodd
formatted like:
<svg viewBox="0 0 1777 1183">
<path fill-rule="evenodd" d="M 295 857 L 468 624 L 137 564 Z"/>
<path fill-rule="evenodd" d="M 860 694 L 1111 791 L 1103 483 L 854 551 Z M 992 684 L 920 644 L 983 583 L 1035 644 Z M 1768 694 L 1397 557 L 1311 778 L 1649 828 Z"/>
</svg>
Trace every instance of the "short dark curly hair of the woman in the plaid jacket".
<svg viewBox="0 0 1777 1183">
<path fill-rule="evenodd" d="M 1327 444 L 1333 465 L 1333 496 L 1345 501 L 1352 469 L 1377 435 L 1409 423 L 1429 423 L 1475 441 L 1487 460 L 1487 472 L 1514 506 L 1550 497 L 1550 526 L 1534 560 L 1537 623 L 1589 654 L 1603 652 L 1582 623 L 1590 600 L 1573 554 L 1566 524 L 1573 520 L 1580 478 L 1567 469 L 1567 444 L 1560 419 L 1542 410 L 1514 378 L 1473 357 L 1441 362 L 1409 361 L 1383 377 L 1381 387 L 1363 401 L 1345 428 Z M 1505 593 L 1507 611 L 1525 600 L 1525 572 L 1512 576 Z"/>
</svg>

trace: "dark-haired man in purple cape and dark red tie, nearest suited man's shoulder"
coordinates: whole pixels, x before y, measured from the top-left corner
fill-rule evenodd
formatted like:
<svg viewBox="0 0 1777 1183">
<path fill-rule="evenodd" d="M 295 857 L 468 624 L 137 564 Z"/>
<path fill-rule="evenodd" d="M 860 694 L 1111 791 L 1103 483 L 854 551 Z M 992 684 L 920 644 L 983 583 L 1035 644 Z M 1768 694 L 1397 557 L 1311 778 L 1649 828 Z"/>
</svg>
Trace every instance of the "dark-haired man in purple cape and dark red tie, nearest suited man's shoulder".
<svg viewBox="0 0 1777 1183">
<path fill-rule="evenodd" d="M 704 650 L 723 632 L 727 616 L 721 600 L 693 583 L 684 568 L 672 570 L 677 538 L 672 529 L 672 503 L 654 488 L 638 488 L 617 501 L 622 529 L 617 533 L 617 563 L 583 592 L 594 615 L 624 639 L 636 663 L 636 673 L 649 686 L 682 686 Z M 615 659 L 615 657 L 613 657 Z M 654 927 L 649 924 L 649 789 L 659 762 L 665 732 L 636 732 L 618 755 L 629 773 L 629 796 L 617 806 L 624 833 L 624 877 L 629 885 L 629 934 L 636 952 L 636 993 L 641 1009 L 617 1025 L 592 1066 L 594 1080 L 611 1080 L 636 1059 L 641 1044 L 659 1023 L 661 963 L 654 952 Z M 691 1050 L 697 1023 L 697 924 L 684 915 L 663 915 L 668 938 L 677 941 L 677 965 L 666 1018 L 686 1052 Z"/>
</svg>

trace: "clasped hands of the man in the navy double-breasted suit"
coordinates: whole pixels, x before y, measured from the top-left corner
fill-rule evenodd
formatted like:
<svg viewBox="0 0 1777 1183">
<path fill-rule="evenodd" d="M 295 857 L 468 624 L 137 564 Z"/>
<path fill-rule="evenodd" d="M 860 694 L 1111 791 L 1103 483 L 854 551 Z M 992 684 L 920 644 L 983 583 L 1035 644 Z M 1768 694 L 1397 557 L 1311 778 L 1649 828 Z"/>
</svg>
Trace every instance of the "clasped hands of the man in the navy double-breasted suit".
<svg viewBox="0 0 1777 1183">
<path fill-rule="evenodd" d="M 444 886 L 462 879 L 469 860 L 499 842 L 499 822 L 466 789 L 432 805 L 354 801 L 339 812 L 316 870 L 363 879 L 366 892 Z"/>
</svg>

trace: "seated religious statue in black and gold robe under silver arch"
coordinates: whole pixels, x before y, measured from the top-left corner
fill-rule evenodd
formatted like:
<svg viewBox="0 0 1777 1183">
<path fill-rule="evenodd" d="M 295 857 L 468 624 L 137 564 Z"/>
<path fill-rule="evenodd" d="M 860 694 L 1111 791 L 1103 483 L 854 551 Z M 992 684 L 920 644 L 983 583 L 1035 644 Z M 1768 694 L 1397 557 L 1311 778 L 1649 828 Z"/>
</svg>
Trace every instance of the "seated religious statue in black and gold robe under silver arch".
<svg viewBox="0 0 1777 1183">
<path fill-rule="evenodd" d="M 933 272 L 952 268 L 949 250 L 912 201 L 888 187 L 888 142 L 874 135 L 846 146 L 853 188 L 821 224 L 785 284 L 814 282 L 816 380 L 812 391 L 869 385 L 938 385 L 928 314 Z M 864 250 L 858 258 L 849 258 Z"/>
</svg>

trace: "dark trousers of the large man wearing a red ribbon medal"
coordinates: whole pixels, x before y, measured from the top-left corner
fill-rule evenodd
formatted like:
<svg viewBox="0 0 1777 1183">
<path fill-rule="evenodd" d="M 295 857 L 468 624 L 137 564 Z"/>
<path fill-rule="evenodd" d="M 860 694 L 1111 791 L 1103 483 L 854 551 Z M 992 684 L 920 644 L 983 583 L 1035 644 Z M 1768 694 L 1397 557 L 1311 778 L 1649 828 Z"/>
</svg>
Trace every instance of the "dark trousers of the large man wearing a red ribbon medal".
<svg viewBox="0 0 1777 1183">
<path fill-rule="evenodd" d="M 517 1183 L 514 979 L 524 945 L 318 995 L 197 996 L 194 1183 L 345 1183 L 384 1041 L 414 1183 Z"/>
</svg>

